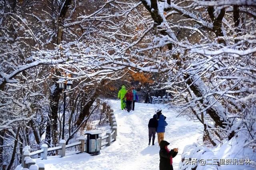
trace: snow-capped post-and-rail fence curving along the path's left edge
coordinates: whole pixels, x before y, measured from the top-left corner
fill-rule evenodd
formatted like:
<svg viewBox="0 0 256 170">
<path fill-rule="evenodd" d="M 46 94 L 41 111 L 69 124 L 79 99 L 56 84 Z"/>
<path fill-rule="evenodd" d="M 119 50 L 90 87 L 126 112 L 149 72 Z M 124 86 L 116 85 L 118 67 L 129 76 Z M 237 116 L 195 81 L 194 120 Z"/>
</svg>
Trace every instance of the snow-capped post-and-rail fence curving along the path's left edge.
<svg viewBox="0 0 256 170">
<path fill-rule="evenodd" d="M 100 99 L 96 99 L 96 104 L 100 104 L 100 103 L 101 103 Z M 111 129 L 106 132 L 105 136 L 99 135 L 100 149 L 101 149 L 101 147 L 110 146 L 110 144 L 112 142 L 116 141 L 117 123 L 116 123 L 116 117 L 113 113 L 113 109 L 110 109 L 110 106 L 106 106 L 106 103 L 103 103 L 101 106 L 99 105 L 99 108 L 102 109 L 102 111 L 110 112 L 109 121 L 110 121 L 110 126 L 111 126 Z M 71 155 L 71 154 L 78 154 L 78 153 L 86 152 L 85 146 L 86 146 L 87 140 L 83 136 L 80 137 L 78 140 L 79 140 L 78 142 L 71 143 L 69 145 L 66 145 L 65 140 L 61 140 L 60 146 L 52 147 L 52 148 L 48 148 L 47 144 L 42 144 L 41 149 L 36 150 L 34 152 L 30 152 L 30 150 L 31 150 L 30 146 L 26 146 L 22 150 L 22 163 L 21 163 L 21 165 L 23 167 L 22 170 L 28 170 L 28 169 L 29 170 L 34 170 L 34 169 L 35 170 L 44 170 L 44 163 L 40 162 L 40 163 L 36 164 L 35 160 L 32 159 L 30 156 L 40 154 L 41 159 L 47 159 L 48 152 L 51 152 L 54 150 L 59 150 L 59 152 L 58 152 L 59 155 L 57 155 L 58 157 L 63 157 L 63 156 Z M 78 150 L 75 150 L 73 152 L 66 154 L 66 149 L 70 148 L 70 147 L 77 147 Z M 49 157 L 50 156 L 48 156 L 48 158 Z"/>
</svg>

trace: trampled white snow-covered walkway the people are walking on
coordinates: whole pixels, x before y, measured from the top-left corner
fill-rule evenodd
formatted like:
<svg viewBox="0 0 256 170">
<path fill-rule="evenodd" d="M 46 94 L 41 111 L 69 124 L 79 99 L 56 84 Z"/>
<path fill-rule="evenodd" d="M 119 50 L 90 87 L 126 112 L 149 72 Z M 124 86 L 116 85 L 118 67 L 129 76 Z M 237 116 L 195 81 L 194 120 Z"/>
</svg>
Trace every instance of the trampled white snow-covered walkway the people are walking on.
<svg viewBox="0 0 256 170">
<path fill-rule="evenodd" d="M 44 162 L 46 170 L 157 170 L 159 169 L 159 147 L 148 146 L 148 121 L 154 115 L 155 109 L 162 109 L 167 117 L 165 140 L 170 143 L 169 149 L 180 148 L 173 159 L 174 170 L 178 169 L 181 154 L 185 145 L 196 142 L 202 135 L 202 125 L 185 118 L 176 118 L 178 113 L 168 110 L 162 104 L 135 104 L 135 111 L 128 113 L 120 109 L 120 102 L 110 100 L 111 108 L 118 123 L 117 141 L 110 147 L 104 147 L 98 156 L 86 153 L 38 160 Z"/>
</svg>

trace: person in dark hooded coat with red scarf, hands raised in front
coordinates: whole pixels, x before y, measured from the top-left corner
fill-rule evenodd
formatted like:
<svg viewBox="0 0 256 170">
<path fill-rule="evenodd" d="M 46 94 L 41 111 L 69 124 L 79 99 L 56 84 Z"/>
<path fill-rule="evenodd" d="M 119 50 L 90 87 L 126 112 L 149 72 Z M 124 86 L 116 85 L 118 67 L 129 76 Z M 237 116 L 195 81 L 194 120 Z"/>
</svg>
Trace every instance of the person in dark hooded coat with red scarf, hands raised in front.
<svg viewBox="0 0 256 170">
<path fill-rule="evenodd" d="M 174 148 L 169 150 L 168 149 L 168 143 L 167 141 L 161 141 L 160 142 L 160 163 L 159 163 L 159 169 L 160 170 L 173 170 L 172 167 L 172 158 L 174 158 L 178 154 L 178 148 Z"/>
</svg>

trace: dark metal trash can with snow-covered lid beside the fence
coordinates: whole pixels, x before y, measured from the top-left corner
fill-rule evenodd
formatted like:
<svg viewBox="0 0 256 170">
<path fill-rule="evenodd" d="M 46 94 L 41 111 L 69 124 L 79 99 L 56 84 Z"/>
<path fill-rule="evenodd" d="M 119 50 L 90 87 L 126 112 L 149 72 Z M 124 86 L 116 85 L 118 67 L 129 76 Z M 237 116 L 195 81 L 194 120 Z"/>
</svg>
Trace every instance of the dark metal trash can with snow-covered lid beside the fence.
<svg viewBox="0 0 256 170">
<path fill-rule="evenodd" d="M 88 154 L 99 154 L 100 153 L 100 145 L 101 145 L 101 139 L 99 138 L 99 135 L 102 132 L 99 130 L 92 130 L 92 131 L 85 131 L 84 135 L 87 135 L 86 139 L 86 146 L 85 146 L 85 152 Z"/>
</svg>

